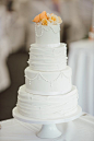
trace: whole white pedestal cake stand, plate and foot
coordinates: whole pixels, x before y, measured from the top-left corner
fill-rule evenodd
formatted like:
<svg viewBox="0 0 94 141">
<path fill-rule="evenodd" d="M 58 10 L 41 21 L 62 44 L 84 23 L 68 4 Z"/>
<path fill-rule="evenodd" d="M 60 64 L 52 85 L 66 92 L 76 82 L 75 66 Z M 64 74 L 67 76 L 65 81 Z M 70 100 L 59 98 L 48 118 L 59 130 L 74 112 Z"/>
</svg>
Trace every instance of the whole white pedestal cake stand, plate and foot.
<svg viewBox="0 0 94 141">
<path fill-rule="evenodd" d="M 24 122 L 28 122 L 28 124 L 40 124 L 43 125 L 40 131 L 37 133 L 37 137 L 39 138 L 58 138 L 60 137 L 62 133 L 57 129 L 56 124 L 61 124 L 61 122 L 68 122 L 71 120 L 74 120 L 77 118 L 79 118 L 82 115 L 82 109 L 80 106 L 78 106 L 78 110 L 75 114 L 71 115 L 71 116 L 67 116 L 64 118 L 60 118 L 60 119 L 54 119 L 54 120 L 39 120 L 39 119 L 34 119 L 34 118 L 27 118 L 22 116 L 19 111 L 17 108 L 15 107 L 13 109 L 13 117 L 24 121 Z"/>
</svg>

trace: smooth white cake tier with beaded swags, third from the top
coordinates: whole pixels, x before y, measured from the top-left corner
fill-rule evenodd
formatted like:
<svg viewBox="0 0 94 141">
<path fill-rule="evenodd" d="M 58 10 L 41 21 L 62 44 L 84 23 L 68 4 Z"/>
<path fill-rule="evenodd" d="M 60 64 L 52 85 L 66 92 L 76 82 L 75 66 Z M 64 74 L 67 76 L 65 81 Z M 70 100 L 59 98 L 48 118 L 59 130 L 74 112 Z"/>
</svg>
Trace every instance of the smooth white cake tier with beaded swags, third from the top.
<svg viewBox="0 0 94 141">
<path fill-rule="evenodd" d="M 55 72 L 34 71 L 27 67 L 25 69 L 26 92 L 42 95 L 64 94 L 71 91 L 71 75 L 70 67 Z"/>
</svg>

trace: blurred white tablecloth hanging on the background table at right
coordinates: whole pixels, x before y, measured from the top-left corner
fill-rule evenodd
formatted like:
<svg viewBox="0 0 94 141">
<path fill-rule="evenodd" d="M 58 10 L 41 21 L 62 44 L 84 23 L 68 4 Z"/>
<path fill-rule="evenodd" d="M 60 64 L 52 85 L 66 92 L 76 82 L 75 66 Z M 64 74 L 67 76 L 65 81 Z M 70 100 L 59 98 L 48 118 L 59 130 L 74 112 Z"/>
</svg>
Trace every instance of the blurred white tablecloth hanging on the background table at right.
<svg viewBox="0 0 94 141">
<path fill-rule="evenodd" d="M 79 91 L 79 104 L 94 115 L 94 42 L 71 43 L 68 64 L 72 68 L 72 83 Z"/>
</svg>

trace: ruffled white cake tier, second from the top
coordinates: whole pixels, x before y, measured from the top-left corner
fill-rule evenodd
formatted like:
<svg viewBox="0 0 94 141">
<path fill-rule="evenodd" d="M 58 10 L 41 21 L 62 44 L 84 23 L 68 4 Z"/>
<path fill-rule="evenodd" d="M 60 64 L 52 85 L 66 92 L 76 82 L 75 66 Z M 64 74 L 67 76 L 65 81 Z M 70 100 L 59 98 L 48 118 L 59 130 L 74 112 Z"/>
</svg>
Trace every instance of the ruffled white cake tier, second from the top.
<svg viewBox="0 0 94 141">
<path fill-rule="evenodd" d="M 38 71 L 58 71 L 67 67 L 67 47 L 38 47 L 33 44 L 30 49 L 30 67 Z"/>
</svg>

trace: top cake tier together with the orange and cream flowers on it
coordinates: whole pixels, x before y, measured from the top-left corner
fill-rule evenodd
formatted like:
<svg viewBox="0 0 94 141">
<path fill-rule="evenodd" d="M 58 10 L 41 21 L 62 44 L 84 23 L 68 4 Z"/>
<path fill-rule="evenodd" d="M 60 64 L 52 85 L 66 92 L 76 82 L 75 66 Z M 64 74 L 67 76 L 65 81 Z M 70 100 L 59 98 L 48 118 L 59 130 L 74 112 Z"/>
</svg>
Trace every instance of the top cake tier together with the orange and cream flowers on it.
<svg viewBox="0 0 94 141">
<path fill-rule="evenodd" d="M 33 20 L 35 22 L 35 39 L 40 46 L 60 45 L 60 23 L 61 19 L 55 14 L 42 12 Z"/>
</svg>

